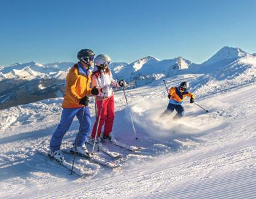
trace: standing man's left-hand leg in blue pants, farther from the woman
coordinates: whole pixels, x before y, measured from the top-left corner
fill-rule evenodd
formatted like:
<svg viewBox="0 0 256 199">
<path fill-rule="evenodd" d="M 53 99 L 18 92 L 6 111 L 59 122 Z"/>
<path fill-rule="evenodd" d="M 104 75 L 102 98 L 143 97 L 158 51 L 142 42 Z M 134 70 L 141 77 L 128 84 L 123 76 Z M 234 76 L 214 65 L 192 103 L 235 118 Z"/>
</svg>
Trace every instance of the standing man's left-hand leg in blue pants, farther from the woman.
<svg viewBox="0 0 256 199">
<path fill-rule="evenodd" d="M 69 130 L 75 114 L 77 114 L 77 108 L 63 108 L 61 113 L 61 121 L 57 126 L 55 132 L 51 136 L 50 149 L 52 152 L 60 150 L 63 136 Z"/>
</svg>

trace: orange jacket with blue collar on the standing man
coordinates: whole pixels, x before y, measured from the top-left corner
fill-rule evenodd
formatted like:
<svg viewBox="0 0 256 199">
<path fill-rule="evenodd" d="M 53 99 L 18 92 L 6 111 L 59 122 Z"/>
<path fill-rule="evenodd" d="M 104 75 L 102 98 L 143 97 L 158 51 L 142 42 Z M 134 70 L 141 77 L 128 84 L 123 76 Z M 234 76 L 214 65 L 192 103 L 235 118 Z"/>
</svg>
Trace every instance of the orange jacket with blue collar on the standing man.
<svg viewBox="0 0 256 199">
<path fill-rule="evenodd" d="M 83 107 L 83 105 L 79 104 L 79 101 L 83 97 L 91 95 L 90 83 L 91 71 L 85 69 L 81 63 L 73 65 L 66 77 L 65 96 L 62 107 Z"/>
</svg>

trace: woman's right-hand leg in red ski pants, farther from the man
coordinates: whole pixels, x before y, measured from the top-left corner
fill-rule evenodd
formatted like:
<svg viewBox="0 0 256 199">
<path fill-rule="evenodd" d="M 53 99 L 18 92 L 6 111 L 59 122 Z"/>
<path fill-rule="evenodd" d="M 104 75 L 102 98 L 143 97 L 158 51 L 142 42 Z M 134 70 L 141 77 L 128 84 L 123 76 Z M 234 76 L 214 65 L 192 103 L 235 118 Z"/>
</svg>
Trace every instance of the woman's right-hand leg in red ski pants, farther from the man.
<svg viewBox="0 0 256 199">
<path fill-rule="evenodd" d="M 115 118 L 115 102 L 114 96 L 108 99 L 107 103 L 107 118 L 105 120 L 103 135 L 108 136 L 112 132 L 113 122 Z"/>
</svg>

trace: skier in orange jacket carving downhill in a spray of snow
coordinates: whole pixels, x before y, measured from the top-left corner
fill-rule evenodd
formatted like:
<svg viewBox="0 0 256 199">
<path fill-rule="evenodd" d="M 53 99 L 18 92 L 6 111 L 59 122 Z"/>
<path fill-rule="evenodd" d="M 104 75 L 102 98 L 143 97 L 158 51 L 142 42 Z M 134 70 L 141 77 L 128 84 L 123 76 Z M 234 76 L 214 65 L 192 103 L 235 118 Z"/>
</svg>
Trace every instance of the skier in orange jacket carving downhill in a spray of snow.
<svg viewBox="0 0 256 199">
<path fill-rule="evenodd" d="M 189 88 L 189 83 L 182 82 L 179 87 L 171 87 L 168 93 L 169 104 L 167 109 L 161 116 L 165 116 L 170 114 L 175 109 L 177 114 L 174 116 L 174 119 L 181 118 L 184 115 L 184 108 L 181 106 L 183 99 L 185 97 L 190 97 L 190 102 L 193 103 L 195 100 L 195 95 L 193 93 L 189 93 L 187 89 Z"/>
</svg>

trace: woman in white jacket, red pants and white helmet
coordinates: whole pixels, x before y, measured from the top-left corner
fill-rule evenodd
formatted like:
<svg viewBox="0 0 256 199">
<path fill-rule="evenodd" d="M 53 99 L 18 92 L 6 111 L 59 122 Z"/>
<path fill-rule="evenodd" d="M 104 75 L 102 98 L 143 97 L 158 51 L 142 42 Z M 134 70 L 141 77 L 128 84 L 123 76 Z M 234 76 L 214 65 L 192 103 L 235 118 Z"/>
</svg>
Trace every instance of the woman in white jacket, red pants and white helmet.
<svg viewBox="0 0 256 199">
<path fill-rule="evenodd" d="M 94 60 L 95 68 L 91 75 L 91 87 L 101 89 L 99 95 L 96 96 L 97 120 L 93 126 L 93 132 L 91 133 L 91 138 L 95 139 L 97 122 L 99 121 L 97 142 L 100 142 L 101 128 L 103 125 L 103 138 L 109 139 L 111 142 L 115 142 L 115 138 L 111 133 L 115 118 L 114 92 L 112 87 L 126 87 L 124 80 L 117 82 L 113 79 L 112 73 L 109 69 L 110 61 L 111 59 L 108 55 L 98 55 Z M 101 118 L 99 120 L 100 114 Z"/>
</svg>

